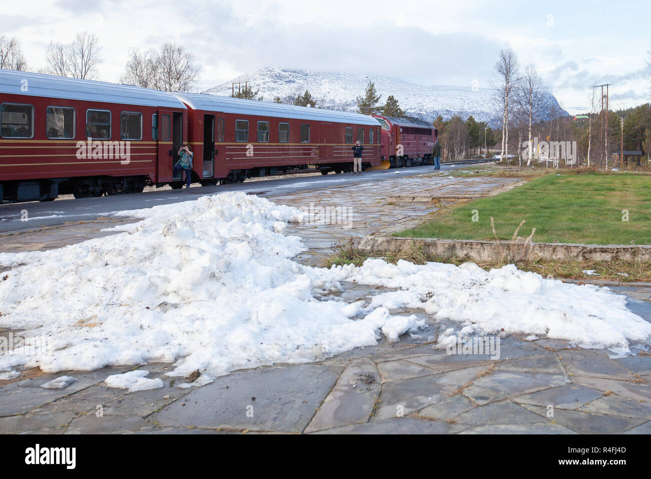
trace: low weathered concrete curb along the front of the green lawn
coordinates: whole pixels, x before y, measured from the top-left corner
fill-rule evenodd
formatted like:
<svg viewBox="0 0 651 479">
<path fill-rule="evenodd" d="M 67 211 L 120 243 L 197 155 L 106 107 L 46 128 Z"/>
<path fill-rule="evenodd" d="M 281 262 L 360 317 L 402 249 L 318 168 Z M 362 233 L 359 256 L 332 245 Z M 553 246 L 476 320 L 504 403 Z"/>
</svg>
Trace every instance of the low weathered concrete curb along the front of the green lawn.
<svg viewBox="0 0 651 479">
<path fill-rule="evenodd" d="M 368 235 L 359 249 L 375 252 L 398 252 L 409 247 L 422 248 L 437 257 L 469 257 L 475 261 L 499 261 L 508 257 L 516 261 L 548 259 L 558 261 L 651 261 L 651 246 L 622 244 L 538 243 L 518 241 L 454 240 L 437 238 Z"/>
</svg>

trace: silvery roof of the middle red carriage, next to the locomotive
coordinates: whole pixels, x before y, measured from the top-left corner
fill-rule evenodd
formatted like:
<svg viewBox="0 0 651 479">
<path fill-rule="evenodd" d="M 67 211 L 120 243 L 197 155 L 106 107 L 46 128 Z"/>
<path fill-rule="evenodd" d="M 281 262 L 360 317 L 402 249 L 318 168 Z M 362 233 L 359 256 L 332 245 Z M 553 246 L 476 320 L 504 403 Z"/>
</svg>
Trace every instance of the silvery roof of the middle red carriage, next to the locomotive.
<svg viewBox="0 0 651 479">
<path fill-rule="evenodd" d="M 190 108 L 202 109 L 205 111 L 378 126 L 378 121 L 373 117 L 361 115 L 360 113 L 350 113 L 349 111 L 336 111 L 331 109 L 285 105 L 281 103 L 258 102 L 257 100 L 243 100 L 242 98 L 217 96 L 208 93 L 174 93 L 174 95 Z"/>
</svg>

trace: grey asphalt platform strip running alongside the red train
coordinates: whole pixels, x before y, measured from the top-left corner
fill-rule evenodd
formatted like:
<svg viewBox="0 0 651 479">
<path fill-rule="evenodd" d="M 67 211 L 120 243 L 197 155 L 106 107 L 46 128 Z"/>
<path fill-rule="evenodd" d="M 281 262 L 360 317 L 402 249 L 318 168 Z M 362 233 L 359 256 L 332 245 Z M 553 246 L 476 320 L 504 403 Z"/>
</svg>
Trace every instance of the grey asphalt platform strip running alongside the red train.
<svg viewBox="0 0 651 479">
<path fill-rule="evenodd" d="M 454 165 L 441 166 L 441 170 L 451 169 Z M 432 165 L 415 166 L 399 169 L 365 171 L 362 175 L 343 173 L 335 175 L 318 175 L 313 177 L 269 179 L 266 181 L 203 186 L 182 190 L 162 190 L 140 194 L 102 196 L 98 198 L 64 199 L 44 203 L 8 203 L 0 205 L 0 233 L 37 229 L 66 222 L 94 220 L 100 216 L 109 216 L 111 212 L 150 208 L 197 199 L 209 194 L 243 191 L 258 196 L 271 196 L 342 186 L 359 182 L 375 182 L 395 179 L 398 176 L 417 175 L 434 171 Z M 26 219 L 26 221 L 24 220 Z"/>
</svg>

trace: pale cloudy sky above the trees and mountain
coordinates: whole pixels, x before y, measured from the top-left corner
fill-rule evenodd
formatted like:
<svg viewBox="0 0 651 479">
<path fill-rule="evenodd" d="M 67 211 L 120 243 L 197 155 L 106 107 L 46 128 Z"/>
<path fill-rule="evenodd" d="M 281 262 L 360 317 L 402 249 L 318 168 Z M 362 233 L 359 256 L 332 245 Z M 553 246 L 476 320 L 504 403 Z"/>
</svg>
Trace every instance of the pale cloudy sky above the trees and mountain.
<svg viewBox="0 0 651 479">
<path fill-rule="evenodd" d="M 649 0 L 21 0 L 3 2 L 0 35 L 18 37 L 38 69 L 51 40 L 96 33 L 105 81 L 118 80 L 130 47 L 179 42 L 201 66 L 201 90 L 266 66 L 482 87 L 510 47 L 581 113 L 600 83 L 612 84 L 611 108 L 649 101 L 649 18 Z"/>
</svg>

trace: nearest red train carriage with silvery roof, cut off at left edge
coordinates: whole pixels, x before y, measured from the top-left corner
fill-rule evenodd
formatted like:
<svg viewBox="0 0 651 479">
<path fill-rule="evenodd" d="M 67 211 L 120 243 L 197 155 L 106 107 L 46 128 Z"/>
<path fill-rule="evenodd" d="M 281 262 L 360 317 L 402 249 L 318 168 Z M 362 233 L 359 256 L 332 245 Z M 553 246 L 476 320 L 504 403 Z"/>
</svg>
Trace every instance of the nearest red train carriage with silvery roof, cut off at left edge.
<svg viewBox="0 0 651 479">
<path fill-rule="evenodd" d="M 169 93 L 0 70 L 0 201 L 170 182 L 186 111 Z"/>
</svg>

